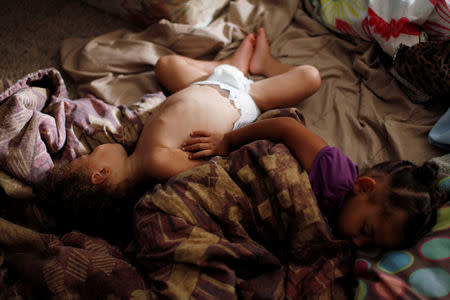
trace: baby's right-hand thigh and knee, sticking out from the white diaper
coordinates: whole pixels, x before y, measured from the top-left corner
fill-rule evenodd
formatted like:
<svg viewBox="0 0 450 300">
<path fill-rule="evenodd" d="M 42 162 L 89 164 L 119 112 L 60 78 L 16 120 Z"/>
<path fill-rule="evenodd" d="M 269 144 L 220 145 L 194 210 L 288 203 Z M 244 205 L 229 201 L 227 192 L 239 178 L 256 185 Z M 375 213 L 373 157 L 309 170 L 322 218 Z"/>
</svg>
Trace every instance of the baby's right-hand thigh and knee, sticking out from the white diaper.
<svg viewBox="0 0 450 300">
<path fill-rule="evenodd" d="M 301 102 L 314 94 L 321 82 L 320 73 L 315 67 L 303 65 L 252 83 L 249 94 L 259 109 L 266 111 Z"/>
</svg>

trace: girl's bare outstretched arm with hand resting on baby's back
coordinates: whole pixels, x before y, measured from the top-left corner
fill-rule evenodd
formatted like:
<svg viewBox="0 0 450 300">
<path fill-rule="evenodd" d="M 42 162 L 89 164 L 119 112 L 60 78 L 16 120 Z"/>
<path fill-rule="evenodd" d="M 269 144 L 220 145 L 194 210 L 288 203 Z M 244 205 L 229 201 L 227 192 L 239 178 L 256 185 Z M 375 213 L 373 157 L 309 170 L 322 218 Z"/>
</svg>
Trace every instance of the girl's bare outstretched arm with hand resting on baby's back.
<svg viewBox="0 0 450 300">
<path fill-rule="evenodd" d="M 183 150 L 193 152 L 190 157 L 197 159 L 227 154 L 231 149 L 260 139 L 284 143 L 307 171 L 311 169 L 320 149 L 327 145 L 320 136 L 298 121 L 280 117 L 257 121 L 226 133 L 223 137 L 206 132 L 194 133 L 184 144 Z"/>
</svg>

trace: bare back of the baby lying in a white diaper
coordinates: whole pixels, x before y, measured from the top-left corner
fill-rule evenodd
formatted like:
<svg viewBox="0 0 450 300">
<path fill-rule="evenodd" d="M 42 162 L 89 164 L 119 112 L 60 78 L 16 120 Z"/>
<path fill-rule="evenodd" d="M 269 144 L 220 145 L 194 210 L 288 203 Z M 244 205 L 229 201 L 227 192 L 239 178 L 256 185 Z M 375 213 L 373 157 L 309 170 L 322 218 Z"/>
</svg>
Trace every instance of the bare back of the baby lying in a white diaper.
<svg viewBox="0 0 450 300">
<path fill-rule="evenodd" d="M 239 117 L 239 111 L 219 88 L 189 86 L 169 96 L 153 111 L 141 132 L 135 154 L 151 168 L 153 162 L 149 161 L 148 154 L 162 150 L 161 153 L 181 160 L 174 163 L 186 163 L 189 169 L 192 163 L 199 164 L 189 161 L 188 153 L 181 150 L 189 134 L 198 130 L 229 132 Z"/>
</svg>

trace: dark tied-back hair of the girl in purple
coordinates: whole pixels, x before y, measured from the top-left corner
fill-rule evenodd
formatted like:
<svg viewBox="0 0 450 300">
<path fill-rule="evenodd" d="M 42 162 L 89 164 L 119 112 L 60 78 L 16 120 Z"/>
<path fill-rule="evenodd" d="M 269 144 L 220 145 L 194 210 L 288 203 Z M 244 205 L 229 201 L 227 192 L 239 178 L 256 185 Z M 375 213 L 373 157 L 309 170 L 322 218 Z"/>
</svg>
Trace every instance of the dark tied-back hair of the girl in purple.
<svg viewBox="0 0 450 300">
<path fill-rule="evenodd" d="M 449 200 L 449 195 L 438 186 L 439 167 L 432 162 L 417 166 L 410 161 L 391 161 L 377 164 L 362 176 L 388 176 L 386 215 L 391 207 L 408 214 L 404 228 L 405 242 L 417 242 L 436 223 L 437 208 Z"/>
</svg>

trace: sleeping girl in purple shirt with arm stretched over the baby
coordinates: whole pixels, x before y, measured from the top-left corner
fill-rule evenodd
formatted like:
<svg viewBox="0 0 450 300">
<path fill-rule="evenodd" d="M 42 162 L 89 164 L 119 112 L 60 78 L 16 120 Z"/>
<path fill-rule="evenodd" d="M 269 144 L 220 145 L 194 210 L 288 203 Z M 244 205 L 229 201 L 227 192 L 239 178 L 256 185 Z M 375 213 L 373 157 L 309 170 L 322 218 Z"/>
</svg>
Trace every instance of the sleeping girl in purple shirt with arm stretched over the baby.
<svg viewBox="0 0 450 300">
<path fill-rule="evenodd" d="M 216 133 L 196 131 L 183 143 L 191 159 L 227 155 L 254 140 L 284 143 L 309 174 L 322 214 L 333 232 L 356 247 L 402 248 L 414 244 L 436 222 L 449 200 L 438 186 L 438 166 L 401 160 L 377 164 L 359 174 L 337 148 L 298 121 L 279 117 Z"/>
</svg>

